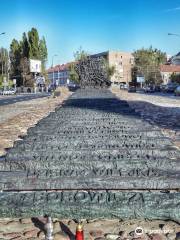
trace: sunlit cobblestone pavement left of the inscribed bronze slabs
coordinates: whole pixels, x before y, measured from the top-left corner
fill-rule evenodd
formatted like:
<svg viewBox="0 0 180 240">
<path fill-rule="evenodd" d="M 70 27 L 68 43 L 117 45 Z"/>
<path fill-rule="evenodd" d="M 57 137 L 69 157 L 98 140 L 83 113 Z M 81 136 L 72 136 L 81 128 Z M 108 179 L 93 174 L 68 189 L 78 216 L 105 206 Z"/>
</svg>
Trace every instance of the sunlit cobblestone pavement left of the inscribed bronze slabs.
<svg viewBox="0 0 180 240">
<path fill-rule="evenodd" d="M 0 106 L 0 155 L 5 154 L 5 148 L 12 147 L 18 136 L 25 135 L 29 127 L 54 111 L 69 95 L 70 92 L 63 88 L 57 98 L 45 97 Z"/>
</svg>

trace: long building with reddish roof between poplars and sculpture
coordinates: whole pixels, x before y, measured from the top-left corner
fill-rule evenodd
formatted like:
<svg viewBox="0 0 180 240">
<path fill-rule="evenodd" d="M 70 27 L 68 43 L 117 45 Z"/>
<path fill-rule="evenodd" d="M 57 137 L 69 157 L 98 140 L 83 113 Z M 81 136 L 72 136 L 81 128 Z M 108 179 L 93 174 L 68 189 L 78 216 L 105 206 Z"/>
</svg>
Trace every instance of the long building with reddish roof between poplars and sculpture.
<svg viewBox="0 0 180 240">
<path fill-rule="evenodd" d="M 48 79 L 54 85 L 66 85 L 69 79 L 69 63 L 56 65 L 48 69 Z"/>
</svg>

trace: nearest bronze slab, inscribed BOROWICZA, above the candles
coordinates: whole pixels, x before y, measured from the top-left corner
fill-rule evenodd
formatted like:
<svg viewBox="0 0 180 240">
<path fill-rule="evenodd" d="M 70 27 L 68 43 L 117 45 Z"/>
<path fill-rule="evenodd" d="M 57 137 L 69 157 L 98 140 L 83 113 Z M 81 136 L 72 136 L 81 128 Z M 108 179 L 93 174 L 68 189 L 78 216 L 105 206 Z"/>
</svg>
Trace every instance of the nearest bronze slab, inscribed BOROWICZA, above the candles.
<svg viewBox="0 0 180 240">
<path fill-rule="evenodd" d="M 148 191 L 3 192 L 1 217 L 174 220 L 180 223 L 180 193 Z"/>
</svg>

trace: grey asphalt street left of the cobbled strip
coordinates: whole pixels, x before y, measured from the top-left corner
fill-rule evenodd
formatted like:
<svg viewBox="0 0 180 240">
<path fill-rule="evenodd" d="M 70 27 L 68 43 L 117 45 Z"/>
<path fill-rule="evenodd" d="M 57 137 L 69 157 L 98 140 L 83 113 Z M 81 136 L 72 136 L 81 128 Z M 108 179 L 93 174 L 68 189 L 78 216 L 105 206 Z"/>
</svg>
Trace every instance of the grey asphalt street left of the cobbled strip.
<svg viewBox="0 0 180 240">
<path fill-rule="evenodd" d="M 9 105 L 16 102 L 29 101 L 37 98 L 43 98 L 50 96 L 50 93 L 37 93 L 37 94 L 23 94 L 23 95 L 11 95 L 11 96 L 1 96 L 0 106 Z"/>
</svg>

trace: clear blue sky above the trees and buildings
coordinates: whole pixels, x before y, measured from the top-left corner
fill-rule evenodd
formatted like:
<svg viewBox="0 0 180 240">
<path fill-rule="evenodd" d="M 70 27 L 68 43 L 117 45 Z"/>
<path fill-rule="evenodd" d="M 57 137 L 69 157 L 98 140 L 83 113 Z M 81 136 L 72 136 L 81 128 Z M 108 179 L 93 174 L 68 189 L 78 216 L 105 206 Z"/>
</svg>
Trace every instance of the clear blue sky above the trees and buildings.
<svg viewBox="0 0 180 240">
<path fill-rule="evenodd" d="M 48 46 L 49 65 L 73 60 L 80 46 L 89 53 L 160 48 L 180 51 L 180 0 L 0 0 L 0 46 L 36 27 Z"/>
</svg>

